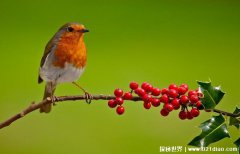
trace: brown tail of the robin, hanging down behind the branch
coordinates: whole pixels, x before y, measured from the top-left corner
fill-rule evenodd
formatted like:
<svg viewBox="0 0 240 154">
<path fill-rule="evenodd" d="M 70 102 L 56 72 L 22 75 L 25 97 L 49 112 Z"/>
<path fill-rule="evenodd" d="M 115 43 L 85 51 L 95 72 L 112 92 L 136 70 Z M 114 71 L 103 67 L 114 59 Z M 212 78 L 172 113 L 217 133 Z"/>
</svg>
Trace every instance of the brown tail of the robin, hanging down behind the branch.
<svg viewBox="0 0 240 154">
<path fill-rule="evenodd" d="M 51 97 L 52 99 L 55 88 L 56 88 L 55 84 L 53 84 L 52 82 L 47 82 L 45 86 L 43 100 L 46 99 L 47 97 Z M 52 104 L 45 104 L 40 108 L 40 112 L 49 113 L 51 111 L 51 108 Z"/>
</svg>

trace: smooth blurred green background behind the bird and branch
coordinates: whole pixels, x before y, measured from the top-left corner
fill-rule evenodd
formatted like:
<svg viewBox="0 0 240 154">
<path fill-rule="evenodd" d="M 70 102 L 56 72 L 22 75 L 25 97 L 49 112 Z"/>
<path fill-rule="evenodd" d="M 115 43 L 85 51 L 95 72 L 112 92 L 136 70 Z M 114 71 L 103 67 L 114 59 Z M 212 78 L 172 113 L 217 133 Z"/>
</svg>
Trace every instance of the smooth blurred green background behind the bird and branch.
<svg viewBox="0 0 240 154">
<path fill-rule="evenodd" d="M 170 83 L 212 80 L 227 92 L 219 109 L 240 104 L 240 2 L 234 0 L 68 0 L 0 2 L 0 121 L 40 101 L 37 84 L 44 47 L 69 21 L 83 23 L 88 64 L 78 83 L 92 94 L 128 90 L 128 83 L 148 81 L 160 88 Z M 72 84 L 56 95 L 77 95 Z M 26 153 L 159 153 L 160 146 L 185 146 L 211 117 L 201 112 L 181 121 L 160 108 L 125 103 L 118 116 L 106 101 L 59 103 L 50 114 L 35 111 L 0 131 L 0 151 Z M 234 147 L 238 136 L 212 147 Z M 209 152 L 211 153 L 211 152 Z"/>
</svg>

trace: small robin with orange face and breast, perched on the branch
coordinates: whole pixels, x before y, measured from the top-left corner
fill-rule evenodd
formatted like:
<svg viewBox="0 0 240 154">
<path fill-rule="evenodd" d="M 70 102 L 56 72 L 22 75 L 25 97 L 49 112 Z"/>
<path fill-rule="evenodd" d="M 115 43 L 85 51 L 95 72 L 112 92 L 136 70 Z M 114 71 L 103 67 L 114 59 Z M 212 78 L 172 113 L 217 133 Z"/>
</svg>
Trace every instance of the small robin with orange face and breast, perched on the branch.
<svg viewBox="0 0 240 154">
<path fill-rule="evenodd" d="M 43 99 L 53 96 L 57 84 L 74 82 L 82 75 L 87 61 L 85 32 L 82 24 L 67 23 L 47 43 L 38 77 L 38 83 L 46 81 Z M 40 108 L 40 112 L 50 111 L 51 104 Z"/>
</svg>

